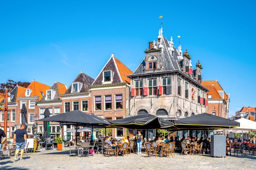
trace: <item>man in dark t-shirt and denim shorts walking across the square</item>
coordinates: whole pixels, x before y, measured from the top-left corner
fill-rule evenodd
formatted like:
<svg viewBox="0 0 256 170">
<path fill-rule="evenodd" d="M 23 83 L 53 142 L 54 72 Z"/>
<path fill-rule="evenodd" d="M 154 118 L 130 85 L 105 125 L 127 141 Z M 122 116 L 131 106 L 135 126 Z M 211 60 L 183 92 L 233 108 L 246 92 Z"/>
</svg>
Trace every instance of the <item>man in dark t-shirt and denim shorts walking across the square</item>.
<svg viewBox="0 0 256 170">
<path fill-rule="evenodd" d="M 25 130 L 24 124 L 20 125 L 20 129 L 17 129 L 14 132 L 13 140 L 14 142 L 16 142 L 16 151 L 14 155 L 14 161 L 17 161 L 17 155 L 19 153 L 19 150 L 20 150 L 19 160 L 24 160 L 22 156 L 24 154 L 24 149 L 27 142 L 27 131 Z"/>
</svg>

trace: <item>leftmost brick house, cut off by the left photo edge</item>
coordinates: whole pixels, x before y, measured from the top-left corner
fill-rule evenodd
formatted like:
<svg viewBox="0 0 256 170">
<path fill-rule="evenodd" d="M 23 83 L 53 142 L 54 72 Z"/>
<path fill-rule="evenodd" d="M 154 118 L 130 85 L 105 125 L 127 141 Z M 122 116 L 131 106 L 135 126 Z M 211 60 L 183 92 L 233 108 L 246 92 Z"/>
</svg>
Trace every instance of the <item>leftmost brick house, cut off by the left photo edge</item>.
<svg viewBox="0 0 256 170">
<path fill-rule="evenodd" d="M 21 97 L 26 91 L 25 87 L 21 87 L 16 85 L 14 89 L 12 89 L 8 93 L 8 109 L 11 109 L 7 113 L 7 139 L 10 137 L 13 137 L 14 131 L 16 130 L 16 124 L 17 124 L 17 117 L 19 116 L 18 111 L 17 111 L 17 106 L 18 106 L 18 97 Z M 2 98 L 1 104 L 4 105 L 5 99 Z M 0 116 L 0 122 L 1 125 L 3 126 L 4 122 L 4 112 L 1 111 L 1 116 Z M 3 127 L 1 126 L 1 129 Z"/>
</svg>

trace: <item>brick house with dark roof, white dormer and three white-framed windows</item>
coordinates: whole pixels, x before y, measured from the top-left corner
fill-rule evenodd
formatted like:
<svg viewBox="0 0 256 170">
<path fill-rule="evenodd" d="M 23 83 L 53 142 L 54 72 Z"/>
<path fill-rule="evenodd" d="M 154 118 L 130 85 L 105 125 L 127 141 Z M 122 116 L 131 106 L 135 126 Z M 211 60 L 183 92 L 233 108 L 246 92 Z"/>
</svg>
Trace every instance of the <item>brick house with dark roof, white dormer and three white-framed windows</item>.
<svg viewBox="0 0 256 170">
<path fill-rule="evenodd" d="M 61 113 L 80 110 L 88 114 L 92 110 L 90 85 L 93 84 L 93 82 L 93 78 L 81 71 L 66 92 L 60 95 L 63 108 L 63 112 Z M 70 129 L 70 125 L 63 126 L 64 132 Z M 65 132 L 64 139 L 71 139 L 71 133 Z"/>
</svg>

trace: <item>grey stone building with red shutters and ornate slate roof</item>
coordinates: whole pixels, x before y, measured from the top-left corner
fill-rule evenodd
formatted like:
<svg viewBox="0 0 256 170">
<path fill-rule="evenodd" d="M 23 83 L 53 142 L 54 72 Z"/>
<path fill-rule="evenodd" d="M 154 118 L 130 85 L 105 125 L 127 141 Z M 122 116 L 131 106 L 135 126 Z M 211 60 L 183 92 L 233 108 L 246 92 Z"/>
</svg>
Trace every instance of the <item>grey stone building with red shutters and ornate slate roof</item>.
<svg viewBox="0 0 256 170">
<path fill-rule="evenodd" d="M 145 57 L 128 77 L 131 80 L 130 115 L 149 113 L 175 120 L 206 112 L 209 91 L 202 82 L 202 66 L 198 61 L 193 69 L 191 57 L 181 46 L 159 30 L 157 41 L 149 43 Z"/>
</svg>

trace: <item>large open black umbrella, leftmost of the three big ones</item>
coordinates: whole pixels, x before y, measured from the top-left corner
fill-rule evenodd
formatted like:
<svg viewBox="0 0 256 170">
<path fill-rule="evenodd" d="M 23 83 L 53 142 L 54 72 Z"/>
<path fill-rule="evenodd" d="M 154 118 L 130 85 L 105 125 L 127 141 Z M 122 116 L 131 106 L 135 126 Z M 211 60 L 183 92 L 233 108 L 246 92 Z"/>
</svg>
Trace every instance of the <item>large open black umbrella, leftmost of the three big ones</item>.
<svg viewBox="0 0 256 170">
<path fill-rule="evenodd" d="M 81 125 L 84 127 L 91 127 L 92 129 L 95 128 L 97 125 L 111 125 L 111 123 L 105 119 L 102 119 L 97 116 L 92 116 L 87 113 L 84 113 L 79 110 L 66 112 L 62 114 L 58 114 L 55 116 L 47 117 L 44 119 L 40 119 L 38 121 L 53 121 L 53 122 L 60 122 L 66 124 L 76 124 L 76 132 L 77 126 Z M 62 124 L 63 125 L 63 124 Z M 77 133 L 76 133 L 77 135 Z M 77 140 L 77 137 L 76 137 Z"/>
</svg>

